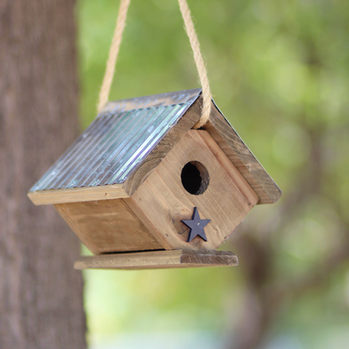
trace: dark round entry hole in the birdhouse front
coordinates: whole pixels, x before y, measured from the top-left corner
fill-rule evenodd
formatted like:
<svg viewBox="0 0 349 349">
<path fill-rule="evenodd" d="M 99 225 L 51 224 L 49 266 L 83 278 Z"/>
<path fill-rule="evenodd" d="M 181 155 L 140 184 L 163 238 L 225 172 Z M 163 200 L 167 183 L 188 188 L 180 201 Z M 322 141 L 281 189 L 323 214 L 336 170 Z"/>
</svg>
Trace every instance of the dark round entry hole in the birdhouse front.
<svg viewBox="0 0 349 349">
<path fill-rule="evenodd" d="M 209 172 L 202 163 L 191 161 L 181 170 L 181 184 L 193 195 L 204 193 L 209 186 Z"/>
</svg>

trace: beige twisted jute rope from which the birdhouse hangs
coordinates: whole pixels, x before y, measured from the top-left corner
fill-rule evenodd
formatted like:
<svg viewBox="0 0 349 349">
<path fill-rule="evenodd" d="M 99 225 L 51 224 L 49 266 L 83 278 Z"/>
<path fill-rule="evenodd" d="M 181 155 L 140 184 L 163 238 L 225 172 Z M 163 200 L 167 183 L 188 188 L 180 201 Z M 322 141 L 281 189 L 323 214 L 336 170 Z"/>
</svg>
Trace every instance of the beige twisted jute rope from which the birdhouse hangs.
<svg viewBox="0 0 349 349">
<path fill-rule="evenodd" d="M 117 16 L 117 26 L 115 27 L 114 36 L 112 38 L 112 45 L 110 46 L 109 57 L 107 59 L 107 68 L 103 78 L 101 91 L 99 93 L 98 112 L 100 112 L 108 101 L 110 94 L 110 87 L 112 87 L 112 79 L 114 77 L 115 65 L 117 63 L 117 55 L 122 40 L 122 34 L 125 28 L 126 16 L 128 6 L 131 0 L 121 0 L 119 7 L 119 14 Z M 186 0 L 178 0 L 181 15 L 184 20 L 186 34 L 188 35 L 193 50 L 194 60 L 200 78 L 202 87 L 202 114 L 200 120 L 195 124 L 194 128 L 204 126 L 209 120 L 211 112 L 211 91 L 209 89 L 209 79 L 207 77 L 207 70 L 200 50 L 200 43 L 196 35 L 193 20 L 191 19 L 191 11 L 189 10 Z"/>
</svg>

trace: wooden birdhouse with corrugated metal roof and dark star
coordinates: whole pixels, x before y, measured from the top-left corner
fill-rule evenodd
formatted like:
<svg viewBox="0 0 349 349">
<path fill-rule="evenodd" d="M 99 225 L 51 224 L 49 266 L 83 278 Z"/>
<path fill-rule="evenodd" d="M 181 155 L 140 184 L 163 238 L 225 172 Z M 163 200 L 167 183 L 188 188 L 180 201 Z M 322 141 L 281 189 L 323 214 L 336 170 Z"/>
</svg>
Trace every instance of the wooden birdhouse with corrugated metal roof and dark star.
<svg viewBox="0 0 349 349">
<path fill-rule="evenodd" d="M 75 267 L 237 263 L 216 249 L 281 191 L 214 101 L 209 122 L 193 129 L 200 93 L 107 103 L 31 188 L 31 201 L 54 205 L 96 255 Z"/>
</svg>

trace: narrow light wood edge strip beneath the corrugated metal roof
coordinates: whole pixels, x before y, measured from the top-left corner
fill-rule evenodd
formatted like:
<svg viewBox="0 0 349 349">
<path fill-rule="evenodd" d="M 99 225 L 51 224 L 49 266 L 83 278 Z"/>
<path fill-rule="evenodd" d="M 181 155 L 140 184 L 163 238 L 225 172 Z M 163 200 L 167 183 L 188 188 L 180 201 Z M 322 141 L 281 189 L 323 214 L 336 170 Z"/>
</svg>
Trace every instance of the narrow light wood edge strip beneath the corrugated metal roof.
<svg viewBox="0 0 349 349">
<path fill-rule="evenodd" d="M 54 205 L 65 202 L 86 202 L 94 200 L 113 200 L 128 198 L 123 184 L 112 186 L 89 186 L 70 189 L 50 189 L 47 191 L 29 191 L 28 197 L 35 205 Z"/>
</svg>

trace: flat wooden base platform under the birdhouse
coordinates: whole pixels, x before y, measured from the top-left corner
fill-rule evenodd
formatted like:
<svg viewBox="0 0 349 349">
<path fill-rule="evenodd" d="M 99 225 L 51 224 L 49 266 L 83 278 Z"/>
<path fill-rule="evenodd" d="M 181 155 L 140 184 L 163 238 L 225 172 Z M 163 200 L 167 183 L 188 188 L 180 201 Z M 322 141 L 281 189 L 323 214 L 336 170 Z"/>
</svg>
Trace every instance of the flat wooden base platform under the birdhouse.
<svg viewBox="0 0 349 349">
<path fill-rule="evenodd" d="M 82 256 L 75 269 L 167 269 L 238 265 L 230 251 L 171 250 Z"/>
</svg>

